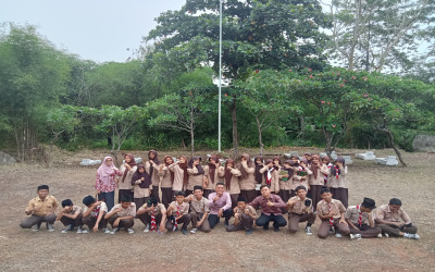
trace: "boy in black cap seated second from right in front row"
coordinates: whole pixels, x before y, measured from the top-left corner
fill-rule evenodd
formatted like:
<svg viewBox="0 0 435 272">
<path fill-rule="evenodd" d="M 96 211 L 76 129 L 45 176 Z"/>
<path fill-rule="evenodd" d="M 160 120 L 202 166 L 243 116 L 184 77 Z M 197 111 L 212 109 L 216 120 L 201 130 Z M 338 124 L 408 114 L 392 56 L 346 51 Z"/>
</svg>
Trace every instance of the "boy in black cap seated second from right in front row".
<svg viewBox="0 0 435 272">
<path fill-rule="evenodd" d="M 361 205 L 347 208 L 345 219 L 349 224 L 350 239 L 382 237 L 382 230 L 374 226 L 372 211 L 376 209 L 373 199 L 364 197 Z"/>
</svg>

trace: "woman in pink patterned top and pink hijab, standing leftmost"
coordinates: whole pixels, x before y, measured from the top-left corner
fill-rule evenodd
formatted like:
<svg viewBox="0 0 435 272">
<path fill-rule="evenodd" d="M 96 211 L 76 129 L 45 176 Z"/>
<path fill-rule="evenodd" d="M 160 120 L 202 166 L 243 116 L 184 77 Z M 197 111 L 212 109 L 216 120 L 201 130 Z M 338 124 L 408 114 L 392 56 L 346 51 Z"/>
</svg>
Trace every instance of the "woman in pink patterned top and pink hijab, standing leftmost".
<svg viewBox="0 0 435 272">
<path fill-rule="evenodd" d="M 113 164 L 112 157 L 105 157 L 97 170 L 96 190 L 98 201 L 104 201 L 110 209 L 115 205 L 115 177 L 123 173 Z"/>
</svg>

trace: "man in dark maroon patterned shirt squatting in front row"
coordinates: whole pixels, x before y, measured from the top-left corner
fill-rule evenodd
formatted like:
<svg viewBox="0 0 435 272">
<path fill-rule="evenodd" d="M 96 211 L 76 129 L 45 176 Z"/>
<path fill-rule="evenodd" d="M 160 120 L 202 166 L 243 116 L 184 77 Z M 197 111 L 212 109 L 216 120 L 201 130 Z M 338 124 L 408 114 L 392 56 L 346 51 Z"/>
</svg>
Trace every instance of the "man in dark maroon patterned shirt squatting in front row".
<svg viewBox="0 0 435 272">
<path fill-rule="evenodd" d="M 256 197 L 249 206 L 254 209 L 261 207 L 261 217 L 257 219 L 256 224 L 262 226 L 264 231 L 269 230 L 269 223 L 273 221 L 273 230 L 279 232 L 279 226 L 287 225 L 287 221 L 283 218 L 282 208 L 286 203 L 278 195 L 271 194 L 268 185 L 262 185 L 260 188 L 261 196 Z"/>
</svg>

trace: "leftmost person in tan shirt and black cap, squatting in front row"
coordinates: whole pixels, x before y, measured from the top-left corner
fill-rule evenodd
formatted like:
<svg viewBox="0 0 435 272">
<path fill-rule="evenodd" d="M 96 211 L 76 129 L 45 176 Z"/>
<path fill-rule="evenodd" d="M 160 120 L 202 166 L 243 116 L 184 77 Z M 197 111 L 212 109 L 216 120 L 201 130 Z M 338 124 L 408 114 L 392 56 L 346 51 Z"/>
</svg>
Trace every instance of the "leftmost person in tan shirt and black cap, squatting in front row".
<svg viewBox="0 0 435 272">
<path fill-rule="evenodd" d="M 25 213 L 30 217 L 24 220 L 20 226 L 22 228 L 30 228 L 35 225 L 33 231 L 37 232 L 39 231 L 41 223 L 46 222 L 47 230 L 53 232 L 53 224 L 55 221 L 54 211 L 58 208 L 59 202 L 53 196 L 48 195 L 48 185 L 38 186 L 36 194 L 38 196 L 28 202 L 25 211 Z"/>
</svg>

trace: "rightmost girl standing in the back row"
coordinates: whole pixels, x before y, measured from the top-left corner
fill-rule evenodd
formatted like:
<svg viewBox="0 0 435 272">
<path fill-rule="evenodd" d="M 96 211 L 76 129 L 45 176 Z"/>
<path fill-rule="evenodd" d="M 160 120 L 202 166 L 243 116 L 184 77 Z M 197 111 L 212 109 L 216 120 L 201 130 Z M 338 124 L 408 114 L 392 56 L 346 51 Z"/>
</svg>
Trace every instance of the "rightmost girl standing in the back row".
<svg viewBox="0 0 435 272">
<path fill-rule="evenodd" d="M 345 165 L 345 159 L 343 157 L 338 157 L 334 161 L 334 165 L 331 166 L 327 187 L 330 187 L 334 198 L 340 200 L 341 203 L 347 208 L 349 191 L 346 176 L 347 165 Z"/>
</svg>

